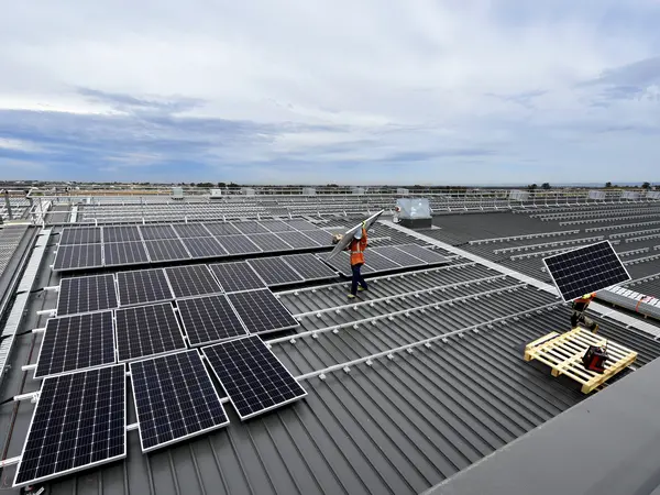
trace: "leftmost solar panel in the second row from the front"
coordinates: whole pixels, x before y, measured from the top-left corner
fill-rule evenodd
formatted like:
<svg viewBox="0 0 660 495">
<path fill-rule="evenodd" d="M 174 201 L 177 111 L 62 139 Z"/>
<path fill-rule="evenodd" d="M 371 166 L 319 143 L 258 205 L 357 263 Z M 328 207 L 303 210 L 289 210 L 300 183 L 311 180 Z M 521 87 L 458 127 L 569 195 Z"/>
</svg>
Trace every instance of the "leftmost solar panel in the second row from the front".
<svg viewBox="0 0 660 495">
<path fill-rule="evenodd" d="M 34 369 L 33 378 L 34 380 L 43 380 L 48 376 L 56 376 L 56 375 L 62 375 L 62 374 L 73 373 L 73 372 L 78 372 L 78 371 L 85 371 L 85 370 L 94 370 L 97 367 L 102 367 L 102 366 L 108 366 L 108 365 L 114 364 L 116 363 L 114 349 L 117 348 L 117 342 L 114 340 L 114 319 L 112 316 L 113 316 L 113 312 L 111 309 L 109 309 L 106 311 L 88 312 L 88 314 L 84 314 L 84 315 L 72 315 L 72 316 L 48 319 L 48 321 L 46 322 L 46 330 L 44 331 L 44 334 L 43 334 L 43 338 L 41 341 L 41 345 L 38 349 L 38 354 L 36 358 L 36 367 Z M 82 329 L 84 320 L 90 320 L 87 324 L 87 327 L 88 327 L 87 329 Z M 92 320 L 97 320 L 97 321 L 92 321 Z M 78 328 L 72 327 L 72 324 L 75 324 L 75 321 L 80 322 L 78 324 Z M 72 322 L 69 324 L 68 329 L 59 327 L 59 326 L 66 324 L 66 322 Z M 109 327 L 108 327 L 108 324 L 109 324 Z M 76 337 L 70 336 L 72 343 L 74 345 L 81 343 L 80 342 L 81 334 L 86 330 L 87 330 L 87 333 L 89 333 L 88 337 L 90 337 L 90 339 L 89 339 L 89 348 L 90 348 L 89 360 L 90 361 L 94 359 L 94 356 L 91 355 L 94 350 L 91 348 L 95 346 L 95 344 L 100 343 L 100 348 L 98 348 L 97 350 L 100 352 L 101 355 L 97 354 L 97 356 L 96 356 L 97 364 L 88 364 L 86 366 L 76 367 L 76 366 L 70 366 L 70 362 L 69 362 L 69 365 L 67 366 L 66 361 L 67 361 L 68 345 L 62 345 L 62 343 L 63 343 L 62 339 L 58 340 L 58 338 L 61 336 L 63 336 L 64 333 L 76 333 L 76 330 L 78 331 L 77 336 Z M 58 333 L 59 333 L 59 336 L 58 336 Z M 108 342 L 108 338 L 110 339 L 110 342 Z M 69 340 L 66 339 L 65 343 L 68 344 Z M 109 344 L 109 349 L 108 349 L 108 344 Z M 80 349 L 81 348 L 78 346 L 78 349 L 74 351 L 77 356 L 80 355 Z M 109 353 L 108 353 L 108 351 L 109 351 Z M 44 360 L 47 359 L 48 356 L 50 356 L 50 363 L 51 363 L 50 365 L 44 362 Z M 53 371 L 53 367 L 54 367 L 53 361 L 56 359 L 59 359 L 59 358 L 62 359 L 62 365 L 58 369 L 58 371 L 54 372 Z M 47 369 L 47 370 L 44 370 L 44 369 Z"/>
</svg>

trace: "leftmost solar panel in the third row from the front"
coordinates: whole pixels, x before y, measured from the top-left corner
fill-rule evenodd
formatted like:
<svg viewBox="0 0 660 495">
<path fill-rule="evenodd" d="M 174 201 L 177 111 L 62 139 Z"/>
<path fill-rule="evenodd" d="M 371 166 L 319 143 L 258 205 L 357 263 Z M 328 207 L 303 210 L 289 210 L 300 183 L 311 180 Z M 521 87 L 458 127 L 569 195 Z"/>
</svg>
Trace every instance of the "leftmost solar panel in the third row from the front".
<svg viewBox="0 0 660 495">
<path fill-rule="evenodd" d="M 117 308 L 112 275 L 63 278 L 57 296 L 57 316 Z"/>
</svg>

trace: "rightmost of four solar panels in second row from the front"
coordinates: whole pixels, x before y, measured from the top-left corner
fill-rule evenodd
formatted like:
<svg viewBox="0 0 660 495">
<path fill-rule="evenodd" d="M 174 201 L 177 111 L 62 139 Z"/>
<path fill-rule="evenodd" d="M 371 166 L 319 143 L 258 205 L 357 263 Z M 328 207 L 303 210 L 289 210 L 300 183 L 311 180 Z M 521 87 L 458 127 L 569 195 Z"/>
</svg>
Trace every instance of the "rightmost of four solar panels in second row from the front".
<svg viewBox="0 0 660 495">
<path fill-rule="evenodd" d="M 227 297 L 250 333 L 274 332 L 300 324 L 268 289 L 231 293 Z"/>
</svg>

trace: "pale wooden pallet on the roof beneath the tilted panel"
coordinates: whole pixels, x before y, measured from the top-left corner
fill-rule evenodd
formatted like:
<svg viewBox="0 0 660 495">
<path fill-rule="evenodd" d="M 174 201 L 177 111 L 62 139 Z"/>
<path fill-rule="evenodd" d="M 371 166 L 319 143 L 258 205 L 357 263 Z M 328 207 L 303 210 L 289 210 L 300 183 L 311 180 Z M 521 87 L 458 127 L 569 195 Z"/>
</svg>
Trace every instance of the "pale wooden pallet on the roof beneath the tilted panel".
<svg viewBox="0 0 660 495">
<path fill-rule="evenodd" d="M 585 370 L 582 356 L 588 346 L 605 344 L 607 344 L 609 356 L 605 362 L 605 373 Z M 588 394 L 603 385 L 607 380 L 632 364 L 636 359 L 637 352 L 580 327 L 565 333 L 548 333 L 525 346 L 525 361 L 537 360 L 550 366 L 552 376 L 566 375 L 581 383 L 583 394 Z"/>
</svg>

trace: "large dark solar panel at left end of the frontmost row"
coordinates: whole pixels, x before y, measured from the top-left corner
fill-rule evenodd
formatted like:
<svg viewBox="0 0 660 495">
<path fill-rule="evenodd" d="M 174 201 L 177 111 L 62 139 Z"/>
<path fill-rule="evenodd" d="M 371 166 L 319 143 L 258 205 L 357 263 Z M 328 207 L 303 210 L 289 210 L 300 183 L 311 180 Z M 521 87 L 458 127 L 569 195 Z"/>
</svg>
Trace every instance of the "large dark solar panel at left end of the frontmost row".
<svg viewBox="0 0 660 495">
<path fill-rule="evenodd" d="M 125 366 L 45 378 L 14 486 L 127 457 Z"/>
</svg>

